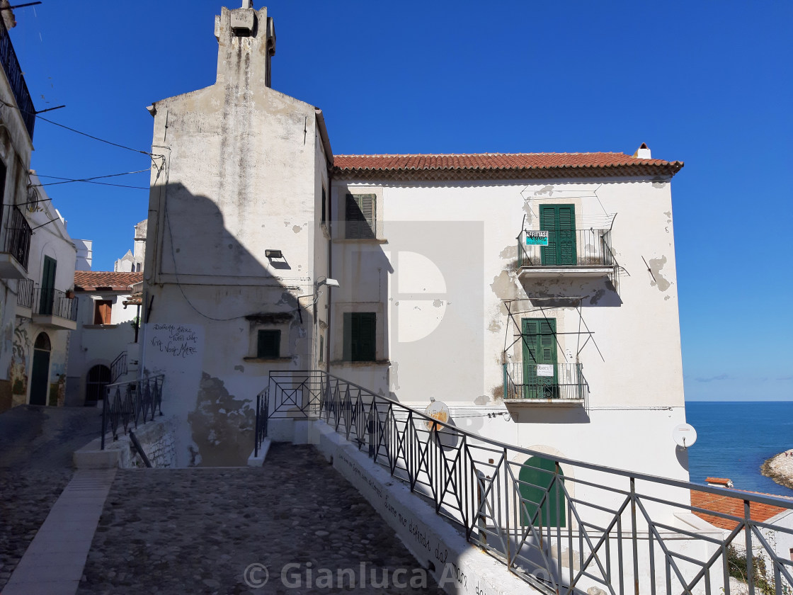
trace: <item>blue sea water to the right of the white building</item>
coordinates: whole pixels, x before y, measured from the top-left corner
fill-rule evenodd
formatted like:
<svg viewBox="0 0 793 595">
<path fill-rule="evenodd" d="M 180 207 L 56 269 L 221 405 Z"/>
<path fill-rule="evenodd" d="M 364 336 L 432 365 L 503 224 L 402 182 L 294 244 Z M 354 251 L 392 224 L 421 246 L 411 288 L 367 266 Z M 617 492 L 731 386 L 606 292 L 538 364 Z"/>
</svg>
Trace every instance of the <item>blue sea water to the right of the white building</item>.
<svg viewBox="0 0 793 595">
<path fill-rule="evenodd" d="M 766 459 L 793 449 L 793 401 L 688 401 L 686 420 L 697 432 L 688 449 L 691 482 L 730 478 L 736 489 L 793 496 L 760 474 Z"/>
</svg>

